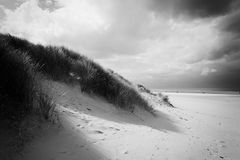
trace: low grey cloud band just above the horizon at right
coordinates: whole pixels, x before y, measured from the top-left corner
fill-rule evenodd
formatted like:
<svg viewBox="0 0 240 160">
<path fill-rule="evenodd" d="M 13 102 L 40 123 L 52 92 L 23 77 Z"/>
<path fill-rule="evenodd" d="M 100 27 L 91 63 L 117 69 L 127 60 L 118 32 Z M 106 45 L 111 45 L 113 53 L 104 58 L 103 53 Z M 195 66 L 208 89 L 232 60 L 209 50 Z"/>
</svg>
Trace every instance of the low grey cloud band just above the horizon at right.
<svg viewBox="0 0 240 160">
<path fill-rule="evenodd" d="M 153 82 L 149 85 L 148 82 L 143 82 L 151 88 L 166 88 L 166 89 L 188 89 L 188 88 L 212 88 L 219 90 L 235 90 L 240 91 L 240 61 L 214 64 L 217 71 L 201 76 L 199 74 L 189 72 L 188 74 L 178 76 L 163 75 L 155 76 Z"/>
</svg>

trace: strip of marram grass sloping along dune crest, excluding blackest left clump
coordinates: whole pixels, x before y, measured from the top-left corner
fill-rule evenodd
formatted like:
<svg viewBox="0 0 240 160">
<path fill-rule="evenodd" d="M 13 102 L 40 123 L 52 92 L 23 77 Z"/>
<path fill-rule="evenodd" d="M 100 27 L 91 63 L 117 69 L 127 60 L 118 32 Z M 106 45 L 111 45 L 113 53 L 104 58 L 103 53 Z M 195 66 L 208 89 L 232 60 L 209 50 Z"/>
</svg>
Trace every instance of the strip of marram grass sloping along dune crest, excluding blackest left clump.
<svg viewBox="0 0 240 160">
<path fill-rule="evenodd" d="M 39 65 L 37 72 L 52 80 L 77 83 L 83 92 L 98 95 L 126 110 L 132 111 L 135 106 L 152 110 L 129 81 L 83 55 L 64 47 L 34 45 L 11 35 L 0 35 L 0 39 L 12 49 L 26 53 L 32 63 Z"/>
</svg>

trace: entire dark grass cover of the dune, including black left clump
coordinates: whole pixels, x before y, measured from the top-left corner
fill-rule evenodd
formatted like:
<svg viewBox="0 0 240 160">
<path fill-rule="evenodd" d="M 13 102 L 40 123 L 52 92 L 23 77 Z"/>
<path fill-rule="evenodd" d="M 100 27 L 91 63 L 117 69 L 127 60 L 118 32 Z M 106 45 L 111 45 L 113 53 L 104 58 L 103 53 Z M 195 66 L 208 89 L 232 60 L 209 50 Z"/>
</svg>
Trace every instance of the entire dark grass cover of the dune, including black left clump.
<svg viewBox="0 0 240 160">
<path fill-rule="evenodd" d="M 129 111 L 135 106 L 152 111 L 134 87 L 126 85 L 89 58 L 64 47 L 35 45 L 0 34 L 0 71 L 1 117 L 21 119 L 35 107 L 36 99 L 46 99 L 41 98 L 38 75 L 79 84 L 83 92 L 100 96 Z"/>
</svg>

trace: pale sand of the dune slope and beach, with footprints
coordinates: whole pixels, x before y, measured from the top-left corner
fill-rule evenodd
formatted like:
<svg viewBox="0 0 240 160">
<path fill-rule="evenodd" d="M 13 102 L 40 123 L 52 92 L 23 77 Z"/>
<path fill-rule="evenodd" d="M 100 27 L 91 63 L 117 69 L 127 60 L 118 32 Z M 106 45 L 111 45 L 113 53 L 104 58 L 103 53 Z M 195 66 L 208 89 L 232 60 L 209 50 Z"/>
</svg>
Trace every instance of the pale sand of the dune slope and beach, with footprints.
<svg viewBox="0 0 240 160">
<path fill-rule="evenodd" d="M 41 129 L 24 160 L 240 158 L 239 96 L 170 95 L 177 108 L 158 105 L 153 117 L 122 111 L 76 87 L 49 86 L 62 126 Z"/>
</svg>

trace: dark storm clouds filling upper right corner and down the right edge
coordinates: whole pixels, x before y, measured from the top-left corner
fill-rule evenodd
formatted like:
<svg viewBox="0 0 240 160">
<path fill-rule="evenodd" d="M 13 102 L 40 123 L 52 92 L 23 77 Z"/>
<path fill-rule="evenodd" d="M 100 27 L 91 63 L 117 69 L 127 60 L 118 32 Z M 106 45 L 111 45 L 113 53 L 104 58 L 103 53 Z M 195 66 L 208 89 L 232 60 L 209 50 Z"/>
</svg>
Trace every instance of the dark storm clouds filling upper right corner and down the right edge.
<svg viewBox="0 0 240 160">
<path fill-rule="evenodd" d="M 240 1 L 239 0 L 150 0 L 149 9 L 159 16 L 183 16 L 195 18 L 220 18 L 216 24 L 220 31 L 219 46 L 195 62 L 227 58 L 228 61 L 240 58 Z"/>
</svg>

